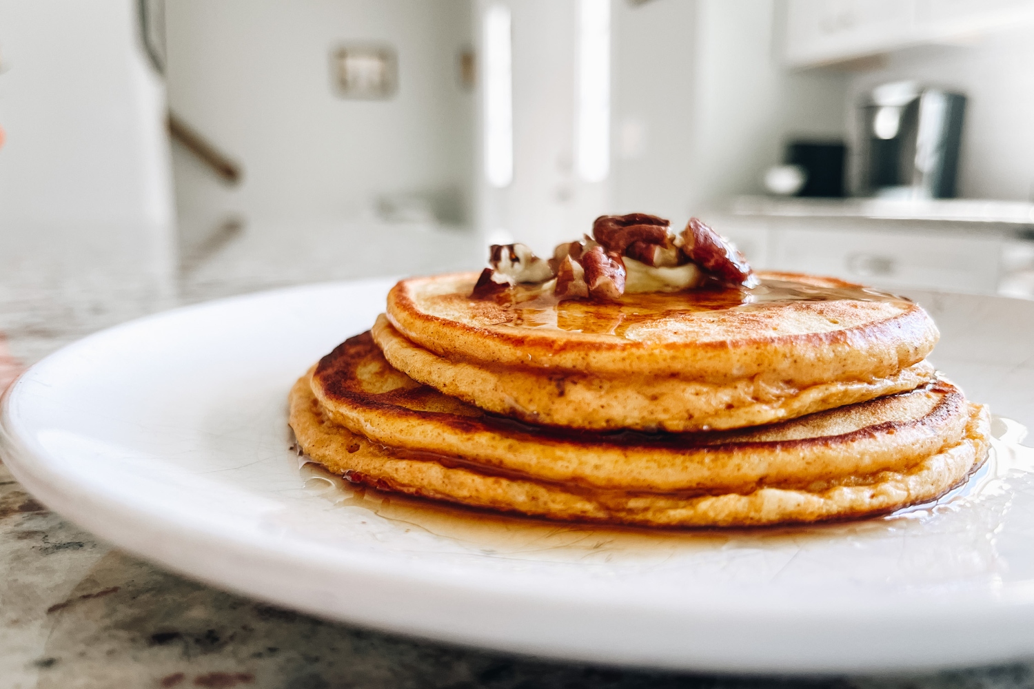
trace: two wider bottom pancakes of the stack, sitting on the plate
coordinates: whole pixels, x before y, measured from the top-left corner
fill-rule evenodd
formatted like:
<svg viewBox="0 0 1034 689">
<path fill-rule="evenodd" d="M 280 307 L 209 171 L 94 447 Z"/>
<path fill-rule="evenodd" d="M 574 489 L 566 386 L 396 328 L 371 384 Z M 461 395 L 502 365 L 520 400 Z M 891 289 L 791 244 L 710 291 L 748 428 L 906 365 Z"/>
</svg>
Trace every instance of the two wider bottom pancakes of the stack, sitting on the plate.
<svg viewBox="0 0 1034 689">
<path fill-rule="evenodd" d="M 947 381 L 761 429 L 566 432 L 486 414 L 388 365 L 369 334 L 295 385 L 291 426 L 382 490 L 558 520 L 747 526 L 926 502 L 986 456 L 986 411 Z"/>
</svg>

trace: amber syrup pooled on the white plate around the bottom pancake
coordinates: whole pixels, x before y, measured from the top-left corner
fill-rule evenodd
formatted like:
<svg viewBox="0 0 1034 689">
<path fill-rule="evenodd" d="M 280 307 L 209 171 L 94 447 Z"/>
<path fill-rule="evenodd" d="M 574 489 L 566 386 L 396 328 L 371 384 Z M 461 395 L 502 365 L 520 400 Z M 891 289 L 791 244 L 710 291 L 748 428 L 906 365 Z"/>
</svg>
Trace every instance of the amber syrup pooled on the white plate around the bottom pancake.
<svg viewBox="0 0 1034 689">
<path fill-rule="evenodd" d="M 358 510 L 364 518 L 363 524 L 379 522 L 386 528 L 405 533 L 419 531 L 474 554 L 580 564 L 650 565 L 669 562 L 680 554 L 717 547 L 799 547 L 834 539 L 864 543 L 926 528 L 941 532 L 950 528 L 966 533 L 972 533 L 974 528 L 984 529 L 987 539 L 992 539 L 1005 520 L 1004 510 L 1011 503 L 1008 497 L 1014 484 L 1034 478 L 1034 448 L 1020 444 L 1026 428 L 996 416 L 992 429 L 995 437 L 987 461 L 966 483 L 937 501 L 879 518 L 804 526 L 647 529 L 558 523 L 356 487 L 304 460 L 300 471 L 308 492 L 329 501 L 335 508 Z"/>
</svg>

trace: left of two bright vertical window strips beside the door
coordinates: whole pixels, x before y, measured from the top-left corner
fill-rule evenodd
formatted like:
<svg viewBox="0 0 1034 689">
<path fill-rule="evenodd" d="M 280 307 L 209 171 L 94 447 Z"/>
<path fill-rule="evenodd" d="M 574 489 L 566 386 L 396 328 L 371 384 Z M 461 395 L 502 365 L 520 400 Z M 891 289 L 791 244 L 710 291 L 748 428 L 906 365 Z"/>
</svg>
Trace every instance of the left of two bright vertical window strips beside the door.
<svg viewBox="0 0 1034 689">
<path fill-rule="evenodd" d="M 493 187 L 514 179 L 514 116 L 510 8 L 485 10 L 485 176 Z"/>
</svg>

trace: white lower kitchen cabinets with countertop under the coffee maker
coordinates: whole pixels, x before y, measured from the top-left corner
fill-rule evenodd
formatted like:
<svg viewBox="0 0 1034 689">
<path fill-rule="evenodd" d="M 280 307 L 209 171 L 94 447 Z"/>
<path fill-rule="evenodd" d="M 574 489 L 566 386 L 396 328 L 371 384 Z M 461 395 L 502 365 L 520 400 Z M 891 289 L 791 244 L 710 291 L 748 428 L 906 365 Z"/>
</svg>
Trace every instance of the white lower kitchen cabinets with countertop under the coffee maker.
<svg viewBox="0 0 1034 689">
<path fill-rule="evenodd" d="M 1034 203 L 740 196 L 705 219 L 737 242 L 759 269 L 891 289 L 995 294 L 1008 272 L 1003 267 L 1007 247 L 1030 243 Z"/>
</svg>

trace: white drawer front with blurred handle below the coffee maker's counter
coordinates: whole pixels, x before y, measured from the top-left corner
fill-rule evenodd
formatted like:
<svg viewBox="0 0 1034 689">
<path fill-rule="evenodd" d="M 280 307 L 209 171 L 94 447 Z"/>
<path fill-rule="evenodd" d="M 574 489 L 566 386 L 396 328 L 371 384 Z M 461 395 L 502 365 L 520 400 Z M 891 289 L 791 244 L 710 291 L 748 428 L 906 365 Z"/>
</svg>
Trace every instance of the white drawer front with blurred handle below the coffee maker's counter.
<svg viewBox="0 0 1034 689">
<path fill-rule="evenodd" d="M 773 230 L 776 270 L 888 287 L 995 293 L 997 237 L 832 229 Z"/>
</svg>

